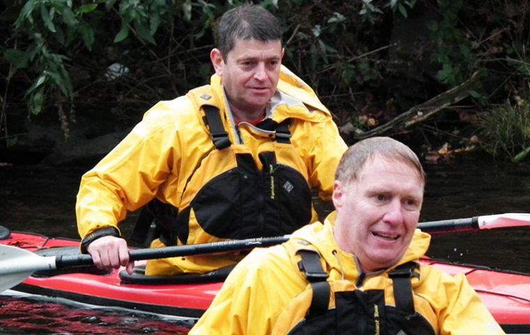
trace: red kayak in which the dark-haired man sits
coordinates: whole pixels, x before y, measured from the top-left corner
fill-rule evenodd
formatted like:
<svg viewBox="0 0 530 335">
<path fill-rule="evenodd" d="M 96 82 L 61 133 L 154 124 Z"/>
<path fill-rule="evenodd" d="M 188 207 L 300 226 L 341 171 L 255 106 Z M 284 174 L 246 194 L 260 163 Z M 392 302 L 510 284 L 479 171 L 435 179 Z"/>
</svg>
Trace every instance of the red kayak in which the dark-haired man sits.
<svg viewBox="0 0 530 335">
<path fill-rule="evenodd" d="M 0 244 L 3 245 L 15 246 L 43 256 L 79 253 L 79 241 L 76 240 L 52 239 L 24 232 L 6 234 L 6 229 L 3 230 L 3 239 L 0 237 Z M 449 274 L 466 274 L 469 283 L 505 332 L 530 333 L 530 274 L 455 265 L 430 258 L 423 259 L 423 262 Z M 12 290 L 62 297 L 96 306 L 173 315 L 195 322 L 208 308 L 222 285 L 221 278 L 226 275 L 221 271 L 206 276 L 153 278 L 142 274 L 142 262 L 137 262 L 137 268 L 132 275 L 126 274 L 123 269 L 102 273 L 93 267 L 36 271 Z"/>
</svg>

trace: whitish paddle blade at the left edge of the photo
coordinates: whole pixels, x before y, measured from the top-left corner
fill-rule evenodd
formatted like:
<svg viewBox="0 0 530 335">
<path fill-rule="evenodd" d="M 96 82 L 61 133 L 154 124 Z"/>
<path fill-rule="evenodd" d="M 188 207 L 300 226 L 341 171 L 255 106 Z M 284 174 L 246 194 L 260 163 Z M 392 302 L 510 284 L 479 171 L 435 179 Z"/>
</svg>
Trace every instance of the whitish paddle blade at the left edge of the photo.
<svg viewBox="0 0 530 335">
<path fill-rule="evenodd" d="M 40 257 L 21 248 L 0 244 L 0 292 L 12 288 L 38 270 L 56 269 L 54 257 Z"/>
</svg>

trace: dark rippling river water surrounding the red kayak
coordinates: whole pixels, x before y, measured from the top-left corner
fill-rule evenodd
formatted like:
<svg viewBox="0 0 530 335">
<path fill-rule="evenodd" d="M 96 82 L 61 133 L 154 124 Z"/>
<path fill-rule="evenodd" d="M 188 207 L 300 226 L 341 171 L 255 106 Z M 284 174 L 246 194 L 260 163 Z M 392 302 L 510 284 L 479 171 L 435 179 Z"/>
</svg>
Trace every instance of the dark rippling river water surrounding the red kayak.
<svg viewBox="0 0 530 335">
<path fill-rule="evenodd" d="M 421 221 L 530 212 L 530 165 L 465 158 L 424 165 Z M 75 195 L 88 166 L 0 166 L 0 225 L 49 237 L 78 238 Z M 328 205 L 319 205 L 321 213 Z M 130 227 L 131 214 L 123 228 Z M 125 229 L 126 233 L 130 230 Z M 530 229 L 436 234 L 428 255 L 530 272 Z M 58 301 L 0 296 L 1 334 L 185 334 L 185 325 L 123 311 L 72 308 Z"/>
</svg>

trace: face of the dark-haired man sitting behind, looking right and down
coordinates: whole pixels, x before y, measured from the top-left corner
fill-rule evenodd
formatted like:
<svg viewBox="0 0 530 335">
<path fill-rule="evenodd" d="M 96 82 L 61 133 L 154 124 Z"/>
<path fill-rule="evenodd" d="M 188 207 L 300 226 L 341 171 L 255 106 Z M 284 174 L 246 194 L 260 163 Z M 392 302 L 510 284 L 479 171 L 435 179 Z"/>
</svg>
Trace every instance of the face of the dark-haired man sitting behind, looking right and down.
<svg viewBox="0 0 530 335">
<path fill-rule="evenodd" d="M 234 49 L 211 52 L 215 73 L 221 76 L 228 102 L 237 117 L 259 117 L 276 91 L 283 57 L 280 40 L 236 40 Z"/>
</svg>

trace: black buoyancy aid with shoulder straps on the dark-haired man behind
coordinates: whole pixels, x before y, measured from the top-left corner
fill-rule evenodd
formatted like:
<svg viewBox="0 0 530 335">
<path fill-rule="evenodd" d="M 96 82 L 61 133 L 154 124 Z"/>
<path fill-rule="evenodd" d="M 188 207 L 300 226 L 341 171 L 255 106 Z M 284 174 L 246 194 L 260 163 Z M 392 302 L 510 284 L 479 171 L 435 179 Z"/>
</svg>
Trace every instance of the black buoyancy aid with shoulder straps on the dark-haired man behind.
<svg viewBox="0 0 530 335">
<path fill-rule="evenodd" d="M 229 148 L 232 143 L 218 107 L 203 105 L 202 108 L 206 115 L 204 121 L 211 133 L 212 151 Z M 280 124 L 265 119 L 257 127 L 275 131 L 271 140 L 290 144 L 289 125 L 289 119 Z M 156 237 L 160 237 L 165 245 L 175 245 L 177 239 L 187 244 L 191 209 L 205 232 L 222 239 L 280 236 L 310 223 L 311 191 L 301 172 L 277 163 L 274 151 L 260 152 L 258 158 L 263 165 L 262 170 L 257 168 L 252 154 L 236 154 L 236 168 L 208 181 L 188 207 L 176 208 L 153 200 L 142 210 L 131 239 L 143 239 L 149 225 L 154 222 L 158 230 Z"/>
</svg>

